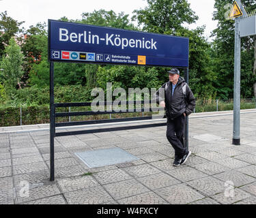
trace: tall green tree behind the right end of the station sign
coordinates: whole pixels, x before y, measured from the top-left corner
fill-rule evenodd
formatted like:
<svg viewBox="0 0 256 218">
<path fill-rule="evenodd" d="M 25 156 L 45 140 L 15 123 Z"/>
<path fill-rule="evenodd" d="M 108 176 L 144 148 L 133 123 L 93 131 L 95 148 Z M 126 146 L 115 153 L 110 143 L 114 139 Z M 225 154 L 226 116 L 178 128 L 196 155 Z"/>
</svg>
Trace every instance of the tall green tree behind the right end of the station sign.
<svg viewBox="0 0 256 218">
<path fill-rule="evenodd" d="M 196 96 L 212 97 L 216 76 L 210 67 L 211 47 L 203 37 L 204 27 L 188 30 L 183 26 L 198 19 L 190 4 L 186 0 L 147 0 L 147 3 L 145 9 L 134 11 L 133 20 L 142 25 L 143 31 L 188 37 L 190 87 Z M 156 69 L 162 81 L 162 70 Z M 168 79 L 166 73 L 164 78 Z"/>
</svg>

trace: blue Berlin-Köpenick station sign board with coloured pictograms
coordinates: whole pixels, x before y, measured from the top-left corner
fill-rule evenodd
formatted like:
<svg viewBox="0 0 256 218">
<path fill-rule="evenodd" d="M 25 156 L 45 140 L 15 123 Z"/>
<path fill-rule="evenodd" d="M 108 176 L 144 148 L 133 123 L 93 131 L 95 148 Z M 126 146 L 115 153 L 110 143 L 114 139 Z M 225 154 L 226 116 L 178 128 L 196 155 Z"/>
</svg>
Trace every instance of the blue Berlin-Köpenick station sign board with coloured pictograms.
<svg viewBox="0 0 256 218">
<path fill-rule="evenodd" d="M 186 37 L 48 20 L 48 59 L 188 67 Z"/>
</svg>

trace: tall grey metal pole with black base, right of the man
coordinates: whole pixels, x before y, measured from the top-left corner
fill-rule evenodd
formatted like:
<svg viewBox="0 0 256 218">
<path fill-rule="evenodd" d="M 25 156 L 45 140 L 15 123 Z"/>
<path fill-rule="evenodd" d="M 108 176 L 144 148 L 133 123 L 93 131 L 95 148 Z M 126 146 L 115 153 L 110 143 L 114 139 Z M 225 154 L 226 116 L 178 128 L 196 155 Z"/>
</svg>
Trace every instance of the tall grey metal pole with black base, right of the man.
<svg viewBox="0 0 256 218">
<path fill-rule="evenodd" d="M 237 1 L 241 8 L 241 2 Z M 233 89 L 233 140 L 232 144 L 240 145 L 240 17 L 235 18 L 235 64 Z"/>
</svg>

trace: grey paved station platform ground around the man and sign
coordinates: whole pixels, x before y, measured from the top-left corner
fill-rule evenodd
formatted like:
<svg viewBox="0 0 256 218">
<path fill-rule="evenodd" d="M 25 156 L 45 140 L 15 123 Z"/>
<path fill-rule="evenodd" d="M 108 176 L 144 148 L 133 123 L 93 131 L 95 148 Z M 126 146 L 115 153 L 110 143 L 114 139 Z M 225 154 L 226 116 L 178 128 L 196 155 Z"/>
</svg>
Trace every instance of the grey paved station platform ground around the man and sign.
<svg viewBox="0 0 256 218">
<path fill-rule="evenodd" d="M 255 204 L 256 110 L 241 112 L 240 146 L 231 113 L 190 116 L 179 167 L 165 126 L 57 137 L 54 182 L 48 125 L 0 127 L 0 204 Z M 74 154 L 116 147 L 139 159 L 89 168 Z"/>
</svg>

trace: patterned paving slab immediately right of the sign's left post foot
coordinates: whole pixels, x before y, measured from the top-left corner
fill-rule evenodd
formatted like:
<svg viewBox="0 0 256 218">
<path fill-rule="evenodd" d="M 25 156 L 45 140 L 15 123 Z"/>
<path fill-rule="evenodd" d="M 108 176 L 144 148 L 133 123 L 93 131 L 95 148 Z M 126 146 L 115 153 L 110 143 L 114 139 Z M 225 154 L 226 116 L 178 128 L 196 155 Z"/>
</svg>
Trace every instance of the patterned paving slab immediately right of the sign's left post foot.
<svg viewBox="0 0 256 218">
<path fill-rule="evenodd" d="M 60 178 L 57 179 L 57 183 L 59 184 L 62 193 L 100 185 L 93 176 L 89 175 Z"/>
</svg>

